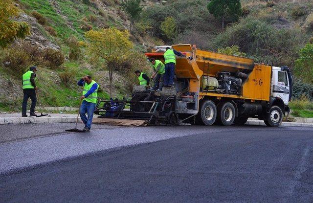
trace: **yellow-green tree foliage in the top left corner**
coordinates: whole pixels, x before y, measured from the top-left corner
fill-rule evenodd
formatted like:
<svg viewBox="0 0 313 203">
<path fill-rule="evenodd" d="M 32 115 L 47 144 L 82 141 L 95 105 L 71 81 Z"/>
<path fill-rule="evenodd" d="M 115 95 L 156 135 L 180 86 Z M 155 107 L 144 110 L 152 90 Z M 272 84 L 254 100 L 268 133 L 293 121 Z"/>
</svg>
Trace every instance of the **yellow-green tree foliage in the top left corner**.
<svg viewBox="0 0 313 203">
<path fill-rule="evenodd" d="M 17 38 L 24 38 L 30 34 L 27 23 L 12 20 L 19 15 L 19 8 L 13 0 L 0 1 L 0 47 L 6 47 Z"/>
</svg>

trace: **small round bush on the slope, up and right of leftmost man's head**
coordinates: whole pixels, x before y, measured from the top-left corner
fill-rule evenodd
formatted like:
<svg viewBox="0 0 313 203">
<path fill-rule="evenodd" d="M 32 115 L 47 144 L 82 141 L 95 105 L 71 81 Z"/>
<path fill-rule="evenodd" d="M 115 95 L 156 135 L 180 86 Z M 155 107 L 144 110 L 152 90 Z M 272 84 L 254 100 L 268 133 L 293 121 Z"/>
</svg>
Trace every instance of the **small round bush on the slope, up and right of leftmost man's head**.
<svg viewBox="0 0 313 203">
<path fill-rule="evenodd" d="M 47 62 L 47 66 L 50 68 L 60 67 L 64 61 L 65 57 L 63 53 L 57 49 L 46 48 L 44 51 L 44 58 Z"/>
</svg>

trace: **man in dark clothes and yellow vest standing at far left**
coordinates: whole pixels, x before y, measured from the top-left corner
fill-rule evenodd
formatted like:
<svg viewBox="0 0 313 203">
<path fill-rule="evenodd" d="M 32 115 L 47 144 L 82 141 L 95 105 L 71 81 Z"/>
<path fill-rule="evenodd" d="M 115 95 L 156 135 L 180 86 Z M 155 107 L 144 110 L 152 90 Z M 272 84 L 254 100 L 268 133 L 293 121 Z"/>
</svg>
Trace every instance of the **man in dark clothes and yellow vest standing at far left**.
<svg viewBox="0 0 313 203">
<path fill-rule="evenodd" d="M 22 76 L 22 85 L 23 85 L 23 103 L 22 103 L 22 117 L 27 117 L 26 108 L 27 108 L 27 100 L 28 98 L 31 99 L 31 106 L 30 106 L 30 115 L 37 116 L 35 114 L 35 106 L 37 102 L 36 98 L 36 90 L 37 86 L 35 83 L 36 80 L 36 67 L 30 67 L 30 69 L 25 72 Z"/>
</svg>

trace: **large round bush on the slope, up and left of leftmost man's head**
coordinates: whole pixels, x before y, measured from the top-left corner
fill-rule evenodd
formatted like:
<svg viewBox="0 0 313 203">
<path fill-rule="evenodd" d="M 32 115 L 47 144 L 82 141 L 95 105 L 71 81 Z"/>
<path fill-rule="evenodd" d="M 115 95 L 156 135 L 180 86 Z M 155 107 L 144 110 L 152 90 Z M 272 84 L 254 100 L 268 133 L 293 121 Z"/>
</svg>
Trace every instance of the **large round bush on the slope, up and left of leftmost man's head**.
<svg viewBox="0 0 313 203">
<path fill-rule="evenodd" d="M 17 77 L 21 77 L 24 72 L 32 65 L 32 61 L 28 53 L 19 48 L 8 48 L 5 50 L 2 59 L 4 67 Z"/>
</svg>

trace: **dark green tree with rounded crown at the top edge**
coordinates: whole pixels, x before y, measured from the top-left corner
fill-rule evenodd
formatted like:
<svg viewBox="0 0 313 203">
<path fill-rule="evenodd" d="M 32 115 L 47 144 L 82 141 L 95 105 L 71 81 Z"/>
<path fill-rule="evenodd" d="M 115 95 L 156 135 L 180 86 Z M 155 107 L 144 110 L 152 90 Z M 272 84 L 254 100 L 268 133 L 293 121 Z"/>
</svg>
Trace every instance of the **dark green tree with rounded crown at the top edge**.
<svg viewBox="0 0 313 203">
<path fill-rule="evenodd" d="M 211 0 L 207 9 L 215 18 L 221 20 L 223 29 L 225 22 L 238 21 L 242 15 L 240 0 Z"/>
</svg>

